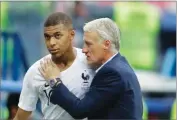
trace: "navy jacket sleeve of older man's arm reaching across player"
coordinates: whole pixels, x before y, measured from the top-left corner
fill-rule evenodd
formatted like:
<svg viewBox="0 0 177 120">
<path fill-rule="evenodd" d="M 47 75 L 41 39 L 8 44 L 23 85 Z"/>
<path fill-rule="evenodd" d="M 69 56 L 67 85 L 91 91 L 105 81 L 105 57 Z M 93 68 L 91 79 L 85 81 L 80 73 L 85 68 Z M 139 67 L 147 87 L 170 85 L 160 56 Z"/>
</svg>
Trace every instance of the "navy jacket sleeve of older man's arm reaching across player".
<svg viewBox="0 0 177 120">
<path fill-rule="evenodd" d="M 77 98 L 62 83 L 51 95 L 50 101 L 65 109 L 75 119 L 92 116 L 96 111 L 109 106 L 122 93 L 124 83 L 115 71 L 106 71 L 93 79 L 99 84 L 91 85 L 83 99 Z"/>
</svg>

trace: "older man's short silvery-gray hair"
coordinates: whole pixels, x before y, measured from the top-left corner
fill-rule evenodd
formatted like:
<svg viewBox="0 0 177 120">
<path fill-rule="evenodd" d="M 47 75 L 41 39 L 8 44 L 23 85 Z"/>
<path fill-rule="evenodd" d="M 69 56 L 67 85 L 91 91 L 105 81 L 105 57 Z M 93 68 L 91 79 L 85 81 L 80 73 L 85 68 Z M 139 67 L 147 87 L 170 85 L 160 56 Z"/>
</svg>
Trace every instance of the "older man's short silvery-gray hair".
<svg viewBox="0 0 177 120">
<path fill-rule="evenodd" d="M 85 24 L 84 32 L 96 31 L 101 40 L 110 40 L 113 52 L 119 51 L 120 47 L 120 30 L 117 24 L 109 18 L 100 18 Z"/>
</svg>

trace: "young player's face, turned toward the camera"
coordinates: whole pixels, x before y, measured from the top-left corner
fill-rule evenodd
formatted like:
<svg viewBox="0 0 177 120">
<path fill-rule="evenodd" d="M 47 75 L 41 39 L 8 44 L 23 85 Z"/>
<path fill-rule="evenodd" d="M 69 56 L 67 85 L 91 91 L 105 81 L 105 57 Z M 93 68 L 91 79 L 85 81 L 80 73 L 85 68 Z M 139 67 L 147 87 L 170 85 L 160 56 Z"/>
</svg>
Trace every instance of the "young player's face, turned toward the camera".
<svg viewBox="0 0 177 120">
<path fill-rule="evenodd" d="M 44 28 L 47 49 L 53 57 L 61 57 L 72 47 L 74 30 L 67 29 L 63 24 Z"/>
</svg>

